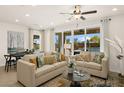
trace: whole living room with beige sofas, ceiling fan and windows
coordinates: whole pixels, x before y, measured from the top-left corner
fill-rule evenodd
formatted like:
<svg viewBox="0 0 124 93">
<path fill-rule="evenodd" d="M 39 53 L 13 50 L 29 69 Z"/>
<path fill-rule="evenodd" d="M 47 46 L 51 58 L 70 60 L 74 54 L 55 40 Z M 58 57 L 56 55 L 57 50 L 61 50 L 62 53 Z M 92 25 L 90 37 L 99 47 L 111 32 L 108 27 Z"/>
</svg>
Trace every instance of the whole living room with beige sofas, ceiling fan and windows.
<svg viewBox="0 0 124 93">
<path fill-rule="evenodd" d="M 124 87 L 124 5 L 3 4 L 0 12 L 1 87 Z"/>
</svg>

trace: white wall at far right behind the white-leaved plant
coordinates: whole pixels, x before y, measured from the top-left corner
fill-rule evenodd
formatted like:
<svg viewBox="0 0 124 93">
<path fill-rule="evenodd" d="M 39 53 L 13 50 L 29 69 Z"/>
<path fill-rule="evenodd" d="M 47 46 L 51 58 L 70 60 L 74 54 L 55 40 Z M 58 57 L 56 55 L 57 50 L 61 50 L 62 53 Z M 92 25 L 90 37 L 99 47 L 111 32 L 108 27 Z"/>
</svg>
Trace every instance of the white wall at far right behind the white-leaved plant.
<svg viewBox="0 0 124 93">
<path fill-rule="evenodd" d="M 111 17 L 109 23 L 109 37 L 113 39 L 117 36 L 123 43 L 124 46 L 124 15 Z M 120 62 L 116 58 L 118 51 L 110 46 L 110 70 L 113 72 L 120 72 Z"/>
</svg>

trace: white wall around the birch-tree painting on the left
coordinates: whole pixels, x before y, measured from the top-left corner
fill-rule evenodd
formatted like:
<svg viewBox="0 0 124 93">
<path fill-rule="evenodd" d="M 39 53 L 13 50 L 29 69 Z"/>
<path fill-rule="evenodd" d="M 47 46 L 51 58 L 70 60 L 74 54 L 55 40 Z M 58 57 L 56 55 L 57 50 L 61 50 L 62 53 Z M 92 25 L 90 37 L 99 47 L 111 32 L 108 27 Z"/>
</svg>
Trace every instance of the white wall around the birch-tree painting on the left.
<svg viewBox="0 0 124 93">
<path fill-rule="evenodd" d="M 7 31 L 24 32 L 24 48 L 29 48 L 28 28 L 16 24 L 0 23 L 0 66 L 5 65 L 4 54 L 7 54 Z"/>
</svg>

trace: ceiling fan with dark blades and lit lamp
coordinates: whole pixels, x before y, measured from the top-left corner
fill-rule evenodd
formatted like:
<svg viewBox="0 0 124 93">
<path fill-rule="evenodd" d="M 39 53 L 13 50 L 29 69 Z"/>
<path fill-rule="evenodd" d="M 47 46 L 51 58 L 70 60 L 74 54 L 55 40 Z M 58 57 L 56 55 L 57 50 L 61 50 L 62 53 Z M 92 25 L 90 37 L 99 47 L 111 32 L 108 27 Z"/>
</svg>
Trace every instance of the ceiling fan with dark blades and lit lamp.
<svg viewBox="0 0 124 93">
<path fill-rule="evenodd" d="M 83 15 L 93 14 L 93 13 L 97 13 L 97 10 L 81 12 L 81 6 L 80 5 L 75 5 L 74 11 L 72 13 L 60 13 L 60 14 L 72 15 L 68 20 L 71 20 L 73 17 L 76 20 L 78 20 L 78 19 L 85 20 L 86 18 Z"/>
</svg>

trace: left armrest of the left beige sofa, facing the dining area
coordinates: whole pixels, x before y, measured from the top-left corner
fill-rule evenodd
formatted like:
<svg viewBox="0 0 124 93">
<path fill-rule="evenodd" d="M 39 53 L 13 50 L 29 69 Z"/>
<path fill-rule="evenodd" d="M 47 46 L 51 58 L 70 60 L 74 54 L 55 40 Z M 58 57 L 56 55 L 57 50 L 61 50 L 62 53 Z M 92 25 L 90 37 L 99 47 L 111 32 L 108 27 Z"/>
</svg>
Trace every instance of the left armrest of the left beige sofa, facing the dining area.
<svg viewBox="0 0 124 93">
<path fill-rule="evenodd" d="M 35 86 L 35 64 L 18 60 L 17 80 L 25 86 Z"/>
</svg>

